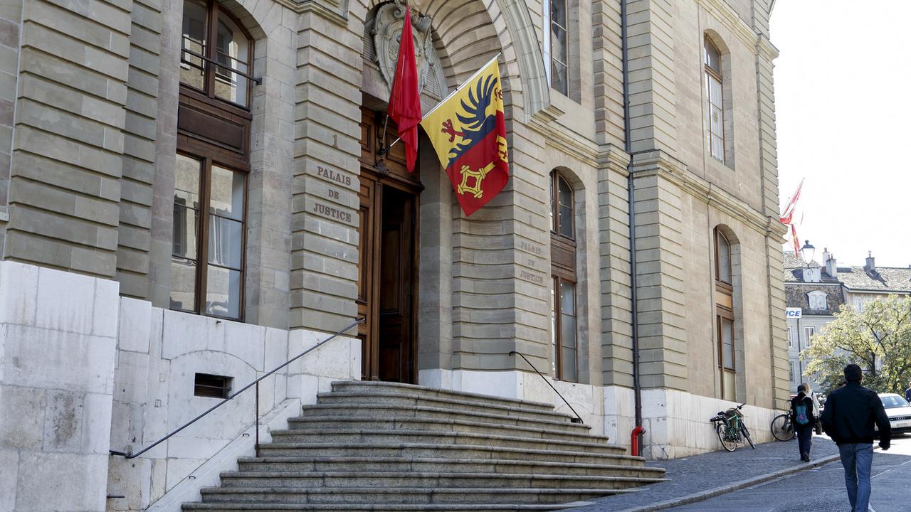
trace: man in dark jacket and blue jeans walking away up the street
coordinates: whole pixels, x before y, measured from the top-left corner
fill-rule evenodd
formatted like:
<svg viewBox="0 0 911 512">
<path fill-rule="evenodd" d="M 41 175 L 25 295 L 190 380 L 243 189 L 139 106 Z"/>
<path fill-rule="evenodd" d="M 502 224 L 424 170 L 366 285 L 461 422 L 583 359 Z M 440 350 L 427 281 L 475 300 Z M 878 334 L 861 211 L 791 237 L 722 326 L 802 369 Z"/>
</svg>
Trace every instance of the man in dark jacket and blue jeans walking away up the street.
<svg viewBox="0 0 911 512">
<path fill-rule="evenodd" d="M 875 391 L 860 385 L 863 377 L 860 366 L 845 366 L 847 384 L 829 394 L 822 417 L 823 429 L 838 445 L 842 457 L 844 486 L 853 512 L 866 512 L 870 506 L 874 424 L 879 427 L 881 448 L 888 450 L 892 441 L 883 401 Z"/>
</svg>

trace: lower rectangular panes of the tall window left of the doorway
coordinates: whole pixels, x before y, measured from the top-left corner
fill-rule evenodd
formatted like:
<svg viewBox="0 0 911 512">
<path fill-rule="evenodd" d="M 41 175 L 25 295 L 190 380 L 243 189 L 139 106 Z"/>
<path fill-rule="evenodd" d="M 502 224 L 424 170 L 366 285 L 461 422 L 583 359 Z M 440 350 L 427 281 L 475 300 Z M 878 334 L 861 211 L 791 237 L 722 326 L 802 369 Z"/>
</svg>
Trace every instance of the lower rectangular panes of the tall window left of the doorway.
<svg viewBox="0 0 911 512">
<path fill-rule="evenodd" d="M 178 154 L 171 309 L 241 319 L 246 179 L 211 159 Z"/>
</svg>

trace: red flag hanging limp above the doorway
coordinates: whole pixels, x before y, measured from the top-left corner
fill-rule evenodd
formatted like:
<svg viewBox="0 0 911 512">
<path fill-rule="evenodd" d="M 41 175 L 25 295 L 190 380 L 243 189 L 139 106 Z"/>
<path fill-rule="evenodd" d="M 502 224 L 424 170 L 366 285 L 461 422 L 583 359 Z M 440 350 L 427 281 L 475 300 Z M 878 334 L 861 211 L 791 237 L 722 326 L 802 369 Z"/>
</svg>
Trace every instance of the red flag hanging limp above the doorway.
<svg viewBox="0 0 911 512">
<path fill-rule="evenodd" d="M 389 117 L 393 118 L 398 126 L 399 137 L 404 143 L 408 172 L 414 172 L 417 159 L 417 124 L 421 122 L 422 116 L 421 95 L 417 90 L 415 37 L 411 33 L 411 9 L 407 3 L 404 6 L 402 42 L 399 43 L 393 90 L 389 96 Z"/>
</svg>

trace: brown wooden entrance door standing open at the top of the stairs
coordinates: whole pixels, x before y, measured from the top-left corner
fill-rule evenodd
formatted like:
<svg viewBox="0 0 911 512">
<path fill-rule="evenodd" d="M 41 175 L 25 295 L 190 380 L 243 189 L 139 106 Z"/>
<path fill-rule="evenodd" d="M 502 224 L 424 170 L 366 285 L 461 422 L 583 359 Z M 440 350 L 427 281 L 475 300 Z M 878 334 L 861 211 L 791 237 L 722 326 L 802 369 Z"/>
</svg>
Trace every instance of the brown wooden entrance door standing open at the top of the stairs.
<svg viewBox="0 0 911 512">
<path fill-rule="evenodd" d="M 362 110 L 358 335 L 362 378 L 417 382 L 417 265 L 419 169 L 410 174 L 404 148 L 396 144 L 385 158 L 376 148 L 383 138 L 382 115 Z M 391 124 L 391 123 L 390 123 Z M 385 144 L 397 138 L 386 130 Z"/>
</svg>

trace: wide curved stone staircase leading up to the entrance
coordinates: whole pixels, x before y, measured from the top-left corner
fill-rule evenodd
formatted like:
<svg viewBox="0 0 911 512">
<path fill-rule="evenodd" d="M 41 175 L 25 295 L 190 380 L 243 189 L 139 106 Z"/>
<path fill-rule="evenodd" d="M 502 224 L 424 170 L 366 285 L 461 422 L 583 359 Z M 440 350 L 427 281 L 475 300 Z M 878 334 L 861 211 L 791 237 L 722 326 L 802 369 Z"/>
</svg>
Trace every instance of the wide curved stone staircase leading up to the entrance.
<svg viewBox="0 0 911 512">
<path fill-rule="evenodd" d="M 549 404 L 336 382 L 184 510 L 556 510 L 662 481 Z"/>
</svg>

